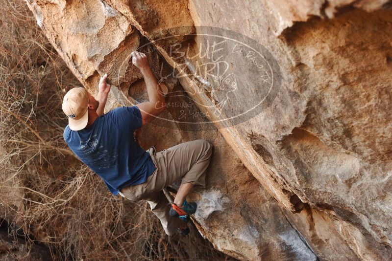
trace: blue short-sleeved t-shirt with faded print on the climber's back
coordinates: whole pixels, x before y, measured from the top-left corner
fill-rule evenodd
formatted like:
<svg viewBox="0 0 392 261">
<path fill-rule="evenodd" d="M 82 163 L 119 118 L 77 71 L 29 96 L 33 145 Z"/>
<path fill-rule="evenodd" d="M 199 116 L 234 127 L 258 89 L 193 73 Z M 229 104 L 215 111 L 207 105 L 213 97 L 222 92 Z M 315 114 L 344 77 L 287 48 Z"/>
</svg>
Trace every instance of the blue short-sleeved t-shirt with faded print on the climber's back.
<svg viewBox="0 0 392 261">
<path fill-rule="evenodd" d="M 119 107 L 98 117 L 88 128 L 72 131 L 64 140 L 76 156 L 105 182 L 110 192 L 146 182 L 156 170 L 148 152 L 135 141 L 133 131 L 142 127 L 137 106 Z"/>
</svg>

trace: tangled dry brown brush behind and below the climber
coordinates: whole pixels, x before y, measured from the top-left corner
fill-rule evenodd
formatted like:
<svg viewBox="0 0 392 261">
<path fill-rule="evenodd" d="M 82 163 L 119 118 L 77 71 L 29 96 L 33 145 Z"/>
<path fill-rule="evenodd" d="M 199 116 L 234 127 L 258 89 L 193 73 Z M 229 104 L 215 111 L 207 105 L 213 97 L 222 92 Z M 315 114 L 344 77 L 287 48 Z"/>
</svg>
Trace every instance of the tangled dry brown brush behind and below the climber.
<svg viewBox="0 0 392 261">
<path fill-rule="evenodd" d="M 112 196 L 77 161 L 63 140 L 61 101 L 80 83 L 25 2 L 0 2 L 1 218 L 44 242 L 55 260 L 226 259 L 197 232 L 169 239 L 147 202 Z"/>
</svg>

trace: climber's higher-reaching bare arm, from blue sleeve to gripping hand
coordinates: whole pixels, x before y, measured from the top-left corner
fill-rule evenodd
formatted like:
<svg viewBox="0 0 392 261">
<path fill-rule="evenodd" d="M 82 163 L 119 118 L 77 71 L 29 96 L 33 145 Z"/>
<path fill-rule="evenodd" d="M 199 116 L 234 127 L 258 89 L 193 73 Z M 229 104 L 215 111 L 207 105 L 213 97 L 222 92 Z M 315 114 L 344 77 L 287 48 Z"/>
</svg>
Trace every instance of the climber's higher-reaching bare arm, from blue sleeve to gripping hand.
<svg viewBox="0 0 392 261">
<path fill-rule="evenodd" d="M 142 113 L 142 125 L 146 125 L 166 109 L 165 96 L 148 65 L 147 55 L 138 51 L 132 52 L 132 63 L 140 69 L 146 82 L 149 101 L 136 105 Z"/>
</svg>

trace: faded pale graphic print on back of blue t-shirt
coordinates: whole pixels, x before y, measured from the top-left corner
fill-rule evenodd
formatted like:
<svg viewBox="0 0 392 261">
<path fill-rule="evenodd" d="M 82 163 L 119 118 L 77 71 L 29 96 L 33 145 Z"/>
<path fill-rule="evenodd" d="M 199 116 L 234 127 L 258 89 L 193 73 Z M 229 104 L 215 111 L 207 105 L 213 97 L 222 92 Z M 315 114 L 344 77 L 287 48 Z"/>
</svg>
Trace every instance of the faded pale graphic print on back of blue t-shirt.
<svg viewBox="0 0 392 261">
<path fill-rule="evenodd" d="M 80 152 L 86 157 L 83 157 L 86 165 L 93 165 L 99 170 L 113 168 L 116 166 L 118 153 L 115 150 L 108 151 L 100 144 L 98 134 L 94 134 L 88 140 L 80 141 Z"/>
</svg>

